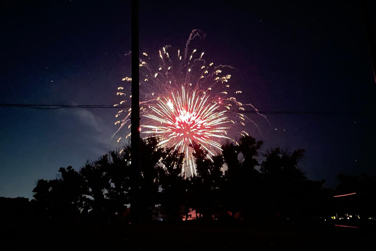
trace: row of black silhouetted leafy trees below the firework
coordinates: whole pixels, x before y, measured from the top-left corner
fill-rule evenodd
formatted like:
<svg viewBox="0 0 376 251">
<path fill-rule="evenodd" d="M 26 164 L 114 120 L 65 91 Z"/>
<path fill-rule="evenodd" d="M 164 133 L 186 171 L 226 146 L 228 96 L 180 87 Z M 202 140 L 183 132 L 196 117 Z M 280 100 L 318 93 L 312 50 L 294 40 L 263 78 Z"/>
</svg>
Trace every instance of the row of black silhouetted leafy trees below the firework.
<svg viewBox="0 0 376 251">
<path fill-rule="evenodd" d="M 197 175 L 182 174 L 184 154 L 179 148 L 159 147 L 158 137 L 142 140 L 140 151 L 141 219 L 179 221 L 196 213 L 199 220 L 312 218 L 329 215 L 331 190 L 322 189 L 324 181 L 311 181 L 298 168 L 304 150 L 291 154 L 280 148 L 263 154 L 262 141 L 241 137 L 237 145 L 226 142 L 221 153 L 209 156 L 206 149 L 193 142 Z M 33 189 L 32 205 L 38 217 L 118 221 L 127 217 L 130 203 L 130 146 L 111 151 L 96 161 L 86 161 L 79 172 L 71 166 L 59 169 L 58 178 L 38 180 Z M 259 170 L 258 166 L 261 166 Z M 225 172 L 223 172 L 225 169 Z M 357 205 L 374 209 L 375 178 L 338 175 L 337 193 L 359 192 Z M 353 210 L 338 204 L 342 210 Z M 130 204 L 132 213 L 132 204 Z M 332 209 L 331 209 L 332 210 Z M 359 211 L 359 210 L 358 210 Z M 278 218 L 278 217 L 277 217 Z"/>
</svg>

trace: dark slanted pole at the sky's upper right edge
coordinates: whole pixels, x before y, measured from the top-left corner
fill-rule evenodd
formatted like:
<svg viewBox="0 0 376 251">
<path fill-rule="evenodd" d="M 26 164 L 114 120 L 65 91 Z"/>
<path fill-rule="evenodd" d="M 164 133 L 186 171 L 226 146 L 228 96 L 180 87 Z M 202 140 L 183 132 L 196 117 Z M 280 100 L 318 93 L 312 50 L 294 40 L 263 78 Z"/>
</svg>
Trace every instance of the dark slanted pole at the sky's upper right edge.
<svg viewBox="0 0 376 251">
<path fill-rule="evenodd" d="M 370 14 L 370 7 L 368 5 L 367 0 L 362 0 L 362 10 L 363 10 L 363 17 L 365 21 L 365 29 L 367 31 L 367 38 L 368 38 L 368 47 L 370 48 L 370 54 L 371 54 L 371 63 L 373 68 L 373 78 L 376 83 L 376 40 L 375 40 L 375 34 L 374 29 L 372 25 L 372 18 Z"/>
</svg>

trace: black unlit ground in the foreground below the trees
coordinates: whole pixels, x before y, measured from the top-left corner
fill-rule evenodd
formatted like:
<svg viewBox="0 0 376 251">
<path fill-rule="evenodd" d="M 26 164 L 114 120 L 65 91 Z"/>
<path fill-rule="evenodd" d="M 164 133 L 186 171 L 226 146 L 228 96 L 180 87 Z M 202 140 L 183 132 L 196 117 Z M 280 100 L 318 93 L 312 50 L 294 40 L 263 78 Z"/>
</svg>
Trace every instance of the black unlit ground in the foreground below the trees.
<svg viewBox="0 0 376 251">
<path fill-rule="evenodd" d="M 346 221 L 2 221 L 0 250 L 375 250 L 376 232 L 371 225 L 335 224 L 351 226 Z"/>
</svg>

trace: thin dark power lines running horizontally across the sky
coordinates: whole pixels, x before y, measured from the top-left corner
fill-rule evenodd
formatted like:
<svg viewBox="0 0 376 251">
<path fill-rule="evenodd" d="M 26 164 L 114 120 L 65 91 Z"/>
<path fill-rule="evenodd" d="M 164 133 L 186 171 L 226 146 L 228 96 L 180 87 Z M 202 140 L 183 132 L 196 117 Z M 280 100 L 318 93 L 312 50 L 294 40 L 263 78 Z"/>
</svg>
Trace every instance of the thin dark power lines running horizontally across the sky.
<svg viewBox="0 0 376 251">
<path fill-rule="evenodd" d="M 32 108 L 41 110 L 56 110 L 62 108 L 83 108 L 83 109 L 129 109 L 131 106 L 122 105 L 46 105 L 46 104 L 6 104 L 0 103 L 1 107 L 14 107 L 14 108 Z M 294 115 L 376 115 L 376 111 L 231 111 L 231 110 L 215 110 L 215 111 L 227 111 L 229 113 L 240 114 L 294 114 Z"/>
</svg>

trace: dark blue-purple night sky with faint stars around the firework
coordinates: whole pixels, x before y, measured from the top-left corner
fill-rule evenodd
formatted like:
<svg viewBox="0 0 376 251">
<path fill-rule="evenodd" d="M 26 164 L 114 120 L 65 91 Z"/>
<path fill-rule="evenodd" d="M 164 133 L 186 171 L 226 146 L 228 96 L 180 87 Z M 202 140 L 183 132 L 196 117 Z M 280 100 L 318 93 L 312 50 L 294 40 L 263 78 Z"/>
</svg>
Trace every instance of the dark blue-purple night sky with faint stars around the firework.
<svg viewBox="0 0 376 251">
<path fill-rule="evenodd" d="M 117 87 L 130 76 L 130 2 L 58 2 L 2 3 L 0 103 L 118 101 Z M 237 68 L 230 81 L 243 90 L 242 103 L 260 111 L 376 110 L 360 4 L 305 2 L 141 1 L 140 52 L 183 49 L 191 30 L 201 29 L 206 37 L 195 45 Z M 116 112 L 0 108 L 0 196 L 31 198 L 35 182 L 55 178 L 59 167 L 78 170 L 121 148 L 111 139 Z M 340 172 L 376 174 L 371 115 L 275 114 L 271 125 L 251 117 L 263 151 L 306 149 L 301 169 L 327 187 Z"/>
</svg>

